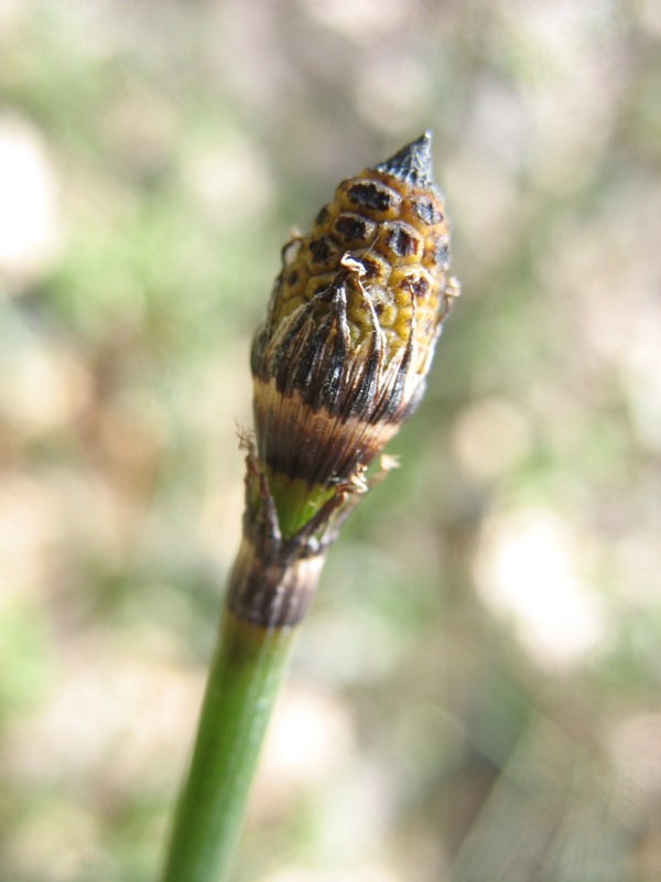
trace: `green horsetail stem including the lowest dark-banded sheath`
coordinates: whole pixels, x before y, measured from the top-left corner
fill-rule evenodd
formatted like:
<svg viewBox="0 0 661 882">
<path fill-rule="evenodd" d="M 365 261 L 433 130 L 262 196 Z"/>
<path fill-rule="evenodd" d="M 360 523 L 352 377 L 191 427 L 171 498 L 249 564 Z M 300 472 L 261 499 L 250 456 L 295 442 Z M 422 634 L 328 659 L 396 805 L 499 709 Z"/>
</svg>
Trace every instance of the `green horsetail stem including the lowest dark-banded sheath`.
<svg viewBox="0 0 661 882">
<path fill-rule="evenodd" d="M 227 878 L 297 622 L 321 563 L 319 557 L 285 560 L 274 542 L 270 549 L 263 544 L 256 549 L 250 538 L 241 542 L 163 882 Z"/>
</svg>

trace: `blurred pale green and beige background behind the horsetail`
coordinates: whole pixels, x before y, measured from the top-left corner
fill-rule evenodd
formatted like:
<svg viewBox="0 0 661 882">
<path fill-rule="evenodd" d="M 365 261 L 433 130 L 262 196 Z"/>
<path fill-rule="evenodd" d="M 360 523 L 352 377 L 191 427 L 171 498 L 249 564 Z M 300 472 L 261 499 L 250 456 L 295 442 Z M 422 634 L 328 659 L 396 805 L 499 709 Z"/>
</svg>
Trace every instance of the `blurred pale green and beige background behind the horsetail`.
<svg viewBox="0 0 661 882">
<path fill-rule="evenodd" d="M 153 880 L 279 249 L 432 128 L 464 293 L 237 882 L 661 879 L 661 6 L 1 0 L 0 878 Z"/>
</svg>

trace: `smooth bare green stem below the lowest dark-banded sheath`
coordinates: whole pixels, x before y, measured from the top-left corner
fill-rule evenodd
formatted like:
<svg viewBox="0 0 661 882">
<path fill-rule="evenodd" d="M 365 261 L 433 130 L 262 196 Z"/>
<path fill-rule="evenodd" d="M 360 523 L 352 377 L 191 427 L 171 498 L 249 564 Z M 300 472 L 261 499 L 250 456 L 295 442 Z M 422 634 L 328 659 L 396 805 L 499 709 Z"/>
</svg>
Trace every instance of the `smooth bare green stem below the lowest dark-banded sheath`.
<svg viewBox="0 0 661 882">
<path fill-rule="evenodd" d="M 295 632 L 224 614 L 163 882 L 226 878 Z"/>
</svg>

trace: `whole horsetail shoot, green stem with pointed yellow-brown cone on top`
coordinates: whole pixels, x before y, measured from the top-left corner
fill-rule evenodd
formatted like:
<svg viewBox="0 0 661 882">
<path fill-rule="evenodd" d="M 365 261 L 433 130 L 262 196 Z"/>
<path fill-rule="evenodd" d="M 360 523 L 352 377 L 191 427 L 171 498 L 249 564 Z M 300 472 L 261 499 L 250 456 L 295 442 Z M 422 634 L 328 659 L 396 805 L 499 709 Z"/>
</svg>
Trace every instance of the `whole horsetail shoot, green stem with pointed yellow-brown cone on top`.
<svg viewBox="0 0 661 882">
<path fill-rule="evenodd" d="M 425 387 L 453 299 L 431 133 L 344 181 L 282 251 L 251 353 L 243 535 L 163 882 L 226 879 L 263 734 L 326 552 Z"/>
</svg>

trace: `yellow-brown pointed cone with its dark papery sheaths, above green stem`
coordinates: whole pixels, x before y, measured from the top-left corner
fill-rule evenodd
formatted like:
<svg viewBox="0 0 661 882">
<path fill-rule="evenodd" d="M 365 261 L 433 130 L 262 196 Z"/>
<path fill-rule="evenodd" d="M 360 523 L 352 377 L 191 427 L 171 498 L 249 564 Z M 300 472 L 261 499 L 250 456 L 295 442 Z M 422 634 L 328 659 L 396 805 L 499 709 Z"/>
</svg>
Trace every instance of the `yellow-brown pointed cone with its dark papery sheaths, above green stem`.
<svg viewBox="0 0 661 882">
<path fill-rule="evenodd" d="M 304 615 L 314 589 L 299 582 L 316 584 L 339 520 L 367 490 L 367 466 L 424 391 L 458 294 L 431 160 L 427 132 L 340 183 L 312 232 L 283 248 L 252 345 L 256 450 L 230 595 L 253 624 Z M 295 588 L 269 598 L 267 584 L 294 570 Z"/>
</svg>

